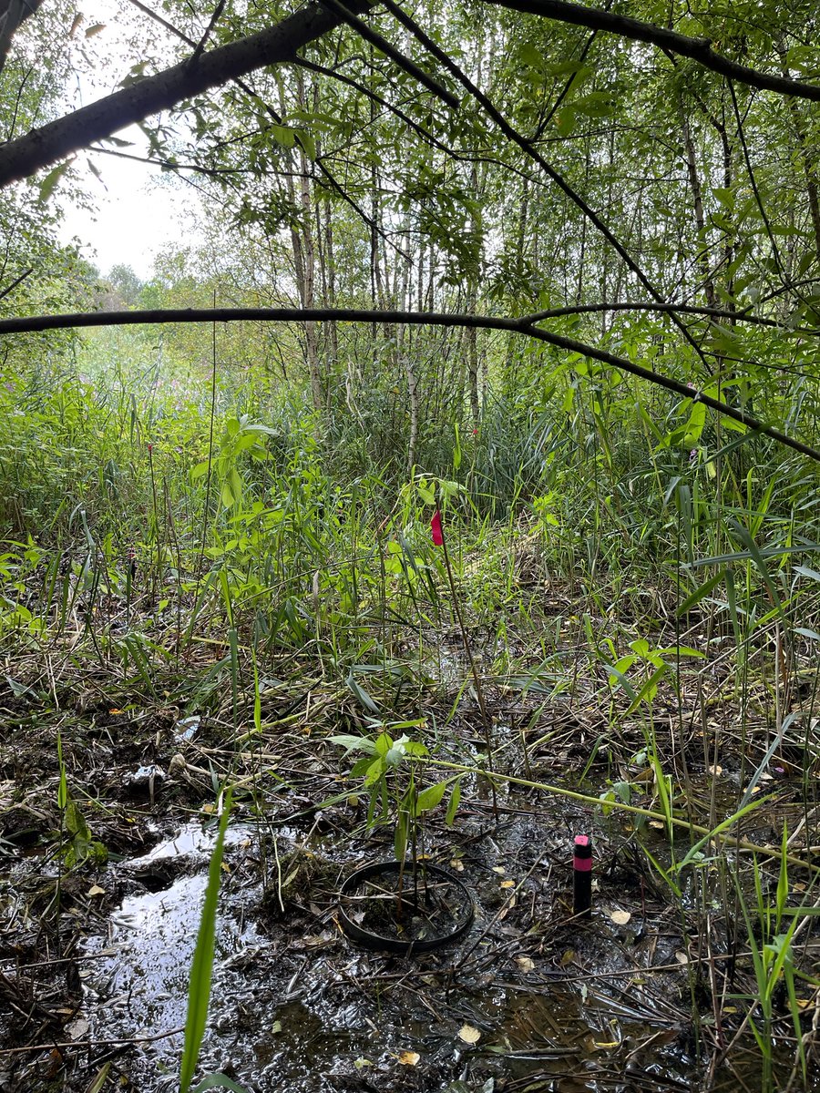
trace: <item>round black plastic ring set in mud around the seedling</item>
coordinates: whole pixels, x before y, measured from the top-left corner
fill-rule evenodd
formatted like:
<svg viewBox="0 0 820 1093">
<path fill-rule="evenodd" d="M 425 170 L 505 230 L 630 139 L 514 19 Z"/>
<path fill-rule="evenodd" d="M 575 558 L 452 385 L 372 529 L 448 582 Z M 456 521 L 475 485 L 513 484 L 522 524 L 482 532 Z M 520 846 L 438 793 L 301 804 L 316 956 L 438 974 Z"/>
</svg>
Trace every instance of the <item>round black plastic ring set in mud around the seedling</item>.
<svg viewBox="0 0 820 1093">
<path fill-rule="evenodd" d="M 433 949 L 440 949 L 442 945 L 449 944 L 466 933 L 472 924 L 472 916 L 476 909 L 467 885 L 440 866 L 431 866 L 425 862 L 421 868 L 423 868 L 427 882 L 432 880 L 436 888 L 446 886 L 447 904 L 450 909 L 455 908 L 454 910 L 452 909 L 448 921 L 437 924 L 432 936 L 415 939 L 403 939 L 396 935 L 390 936 L 387 931 L 382 932 L 382 930 L 376 929 L 373 925 L 355 921 L 351 915 L 351 909 L 356 890 L 362 888 L 365 882 L 375 880 L 378 877 L 384 878 L 386 883 L 395 883 L 398 879 L 399 863 L 397 861 L 376 861 L 370 866 L 356 869 L 341 886 L 339 893 L 339 922 L 348 937 L 368 949 L 411 955 L 412 953 L 430 952 Z M 423 884 L 423 881 L 421 883 Z M 390 894 L 394 894 L 394 892 L 395 890 L 391 890 Z M 402 897 L 409 902 L 412 892 L 412 867 L 406 865 Z M 395 894 L 398 896 L 398 892 L 395 892 Z M 367 896 L 363 895 L 361 900 L 363 903 L 366 903 Z"/>
</svg>

